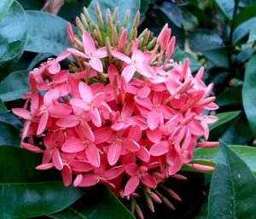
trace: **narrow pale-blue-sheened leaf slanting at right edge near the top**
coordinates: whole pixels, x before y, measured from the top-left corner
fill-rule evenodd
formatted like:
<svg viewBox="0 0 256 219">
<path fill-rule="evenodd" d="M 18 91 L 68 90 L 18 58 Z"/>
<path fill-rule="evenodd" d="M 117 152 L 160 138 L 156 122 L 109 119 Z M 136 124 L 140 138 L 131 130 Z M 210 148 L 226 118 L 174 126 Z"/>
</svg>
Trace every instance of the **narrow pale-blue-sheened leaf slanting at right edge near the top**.
<svg viewBox="0 0 256 219">
<path fill-rule="evenodd" d="M 239 42 L 243 37 L 247 36 L 255 22 L 256 17 L 243 22 L 240 26 L 237 26 L 233 33 L 232 43 L 235 44 Z"/>
</svg>

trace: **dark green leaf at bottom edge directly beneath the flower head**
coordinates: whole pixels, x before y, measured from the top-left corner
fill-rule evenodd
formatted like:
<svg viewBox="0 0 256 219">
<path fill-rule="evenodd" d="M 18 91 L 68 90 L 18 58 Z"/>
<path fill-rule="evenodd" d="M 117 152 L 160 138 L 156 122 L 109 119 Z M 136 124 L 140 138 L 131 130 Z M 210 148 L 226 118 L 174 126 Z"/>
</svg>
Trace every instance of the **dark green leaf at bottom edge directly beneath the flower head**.
<svg viewBox="0 0 256 219">
<path fill-rule="evenodd" d="M 55 219 L 135 219 L 131 212 L 121 204 L 106 187 L 92 188 L 77 203 L 55 215 Z"/>
</svg>

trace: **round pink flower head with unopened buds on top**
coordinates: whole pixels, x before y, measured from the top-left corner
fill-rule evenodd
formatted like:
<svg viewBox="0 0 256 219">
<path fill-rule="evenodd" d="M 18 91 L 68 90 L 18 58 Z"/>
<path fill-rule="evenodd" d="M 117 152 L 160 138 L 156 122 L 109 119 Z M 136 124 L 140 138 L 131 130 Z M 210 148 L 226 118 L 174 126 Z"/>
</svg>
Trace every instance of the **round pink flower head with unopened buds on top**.
<svg viewBox="0 0 256 219">
<path fill-rule="evenodd" d="M 103 183 L 121 197 L 131 199 L 131 211 L 143 218 L 135 198 L 142 189 L 150 210 L 153 200 L 174 209 L 157 187 L 183 165 L 198 170 L 212 167 L 191 163 L 195 147 L 214 147 L 207 141 L 208 124 L 217 118 L 213 85 L 192 75 L 189 59 L 171 60 L 175 37 L 164 26 L 159 37 L 145 30 L 137 37 L 139 14 L 131 32 L 120 27 L 118 10 L 107 10 L 98 25 L 86 9 L 77 19 L 79 35 L 67 32 L 73 48 L 44 62 L 29 73 L 31 92 L 23 108 L 12 111 L 25 120 L 21 147 L 43 153 L 38 170 L 61 170 L 65 186 L 90 187 Z M 125 15 L 125 26 L 129 13 Z M 67 61 L 69 69 L 62 70 Z"/>
</svg>

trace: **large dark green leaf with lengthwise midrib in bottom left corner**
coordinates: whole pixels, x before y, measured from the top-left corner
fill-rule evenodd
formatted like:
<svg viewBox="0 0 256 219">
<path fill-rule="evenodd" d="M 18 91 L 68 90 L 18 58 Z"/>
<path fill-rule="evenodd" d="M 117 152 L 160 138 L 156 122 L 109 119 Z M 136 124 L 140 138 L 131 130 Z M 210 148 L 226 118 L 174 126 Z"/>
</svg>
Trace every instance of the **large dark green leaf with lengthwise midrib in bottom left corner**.
<svg viewBox="0 0 256 219">
<path fill-rule="evenodd" d="M 38 154 L 19 147 L 0 147 L 0 218 L 55 213 L 81 197 L 83 191 L 79 188 L 64 187 L 61 181 L 45 181 L 49 171 L 34 169 L 40 159 Z"/>
</svg>

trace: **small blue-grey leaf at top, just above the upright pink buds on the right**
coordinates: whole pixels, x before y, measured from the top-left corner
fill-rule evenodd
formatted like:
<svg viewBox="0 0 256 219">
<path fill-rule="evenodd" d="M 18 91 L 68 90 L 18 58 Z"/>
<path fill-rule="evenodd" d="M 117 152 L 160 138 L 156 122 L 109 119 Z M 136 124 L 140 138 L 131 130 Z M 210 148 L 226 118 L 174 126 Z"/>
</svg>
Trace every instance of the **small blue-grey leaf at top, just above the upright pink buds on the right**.
<svg viewBox="0 0 256 219">
<path fill-rule="evenodd" d="M 182 24 L 182 13 L 175 3 L 164 2 L 160 4 L 160 11 L 172 21 L 178 27 Z"/>
</svg>

